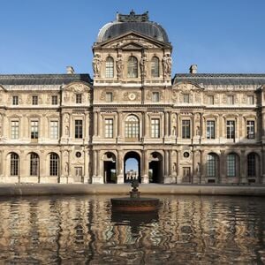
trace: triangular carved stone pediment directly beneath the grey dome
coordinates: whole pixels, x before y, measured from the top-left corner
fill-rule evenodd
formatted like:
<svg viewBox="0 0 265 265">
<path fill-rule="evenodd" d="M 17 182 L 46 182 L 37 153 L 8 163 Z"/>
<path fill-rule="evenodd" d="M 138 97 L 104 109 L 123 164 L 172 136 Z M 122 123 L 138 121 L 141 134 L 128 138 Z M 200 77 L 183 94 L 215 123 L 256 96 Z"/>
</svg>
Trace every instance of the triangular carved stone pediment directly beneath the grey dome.
<svg viewBox="0 0 265 265">
<path fill-rule="evenodd" d="M 155 41 L 145 35 L 135 32 L 126 33 L 118 36 L 117 38 L 110 39 L 106 42 L 99 43 L 99 46 L 107 49 L 130 49 L 129 45 L 134 45 L 132 48 L 162 48 L 166 44 L 163 42 Z"/>
</svg>

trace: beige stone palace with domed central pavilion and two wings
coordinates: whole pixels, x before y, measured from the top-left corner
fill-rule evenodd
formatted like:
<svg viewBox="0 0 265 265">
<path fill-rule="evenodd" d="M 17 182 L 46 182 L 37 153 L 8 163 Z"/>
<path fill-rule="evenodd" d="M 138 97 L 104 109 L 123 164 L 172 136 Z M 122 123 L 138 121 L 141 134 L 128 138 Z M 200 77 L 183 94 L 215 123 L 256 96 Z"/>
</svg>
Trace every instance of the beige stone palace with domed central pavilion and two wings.
<svg viewBox="0 0 265 265">
<path fill-rule="evenodd" d="M 94 77 L 0 75 L 1 183 L 265 183 L 265 74 L 171 73 L 148 12 L 117 14 Z"/>
</svg>

